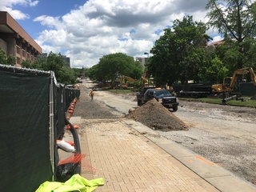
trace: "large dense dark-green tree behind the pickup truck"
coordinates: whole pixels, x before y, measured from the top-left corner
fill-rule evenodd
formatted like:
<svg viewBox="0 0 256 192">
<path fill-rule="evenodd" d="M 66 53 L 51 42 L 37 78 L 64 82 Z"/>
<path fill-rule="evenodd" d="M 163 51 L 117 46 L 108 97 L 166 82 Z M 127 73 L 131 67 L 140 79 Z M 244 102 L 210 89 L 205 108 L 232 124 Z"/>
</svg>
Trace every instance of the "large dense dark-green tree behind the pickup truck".
<svg viewBox="0 0 256 192">
<path fill-rule="evenodd" d="M 198 81 L 198 73 L 204 65 L 204 51 L 210 37 L 206 35 L 206 25 L 193 22 L 192 16 L 182 21 L 175 20 L 173 29 L 165 33 L 150 50 L 149 72 L 157 84 L 188 80 Z"/>
</svg>

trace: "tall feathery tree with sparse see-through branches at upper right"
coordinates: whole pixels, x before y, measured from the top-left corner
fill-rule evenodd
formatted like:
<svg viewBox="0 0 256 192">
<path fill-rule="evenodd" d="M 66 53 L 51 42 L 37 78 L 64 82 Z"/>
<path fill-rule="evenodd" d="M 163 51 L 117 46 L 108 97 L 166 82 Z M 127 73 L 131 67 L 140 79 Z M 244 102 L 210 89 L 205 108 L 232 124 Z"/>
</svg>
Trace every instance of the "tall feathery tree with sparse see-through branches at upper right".
<svg viewBox="0 0 256 192">
<path fill-rule="evenodd" d="M 224 3 L 226 2 L 226 5 Z M 218 33 L 224 34 L 224 42 L 229 50 L 236 53 L 235 69 L 242 68 L 250 62 L 246 54 L 251 50 L 250 42 L 254 42 L 256 30 L 256 4 L 250 0 L 209 0 L 206 9 L 210 10 L 206 15 L 209 17 L 209 26 L 218 29 Z M 247 41 L 250 39 L 250 41 Z M 231 53 L 231 52 L 230 52 Z M 226 54 L 229 57 L 229 54 Z M 234 54 L 233 54 L 234 56 Z M 228 61 L 228 59 L 226 59 Z"/>
</svg>

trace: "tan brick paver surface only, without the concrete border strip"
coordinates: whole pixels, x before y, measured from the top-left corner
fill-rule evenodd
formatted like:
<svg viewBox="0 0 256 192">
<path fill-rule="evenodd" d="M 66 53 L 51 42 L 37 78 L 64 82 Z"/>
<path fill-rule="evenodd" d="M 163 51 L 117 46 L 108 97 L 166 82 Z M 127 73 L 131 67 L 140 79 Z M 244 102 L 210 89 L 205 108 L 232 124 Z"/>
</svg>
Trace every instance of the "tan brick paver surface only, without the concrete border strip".
<svg viewBox="0 0 256 192">
<path fill-rule="evenodd" d="M 81 124 L 82 177 L 105 182 L 95 191 L 218 191 L 122 119 Z"/>
</svg>

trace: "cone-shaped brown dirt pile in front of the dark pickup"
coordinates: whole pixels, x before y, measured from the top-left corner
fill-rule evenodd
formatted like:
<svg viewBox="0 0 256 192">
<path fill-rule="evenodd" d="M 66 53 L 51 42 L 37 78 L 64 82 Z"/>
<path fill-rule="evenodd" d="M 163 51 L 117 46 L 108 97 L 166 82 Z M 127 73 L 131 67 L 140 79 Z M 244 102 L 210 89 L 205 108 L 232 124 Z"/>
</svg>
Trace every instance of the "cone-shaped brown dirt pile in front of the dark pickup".
<svg viewBox="0 0 256 192">
<path fill-rule="evenodd" d="M 155 99 L 151 99 L 141 107 L 132 110 L 129 114 L 126 114 L 126 118 L 142 122 L 142 124 L 149 126 L 153 130 L 188 130 L 188 127 L 182 120 Z"/>
</svg>

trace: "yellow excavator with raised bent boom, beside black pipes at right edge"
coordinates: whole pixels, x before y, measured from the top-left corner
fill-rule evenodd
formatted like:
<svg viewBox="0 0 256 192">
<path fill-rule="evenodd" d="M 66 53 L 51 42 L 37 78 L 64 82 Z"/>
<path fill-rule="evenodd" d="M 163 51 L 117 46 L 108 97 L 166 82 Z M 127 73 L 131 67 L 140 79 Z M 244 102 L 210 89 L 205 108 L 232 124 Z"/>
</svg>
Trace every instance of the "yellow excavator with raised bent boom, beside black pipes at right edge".
<svg viewBox="0 0 256 192">
<path fill-rule="evenodd" d="M 225 94 L 225 98 L 230 97 L 230 95 L 234 95 L 236 93 L 232 93 L 234 90 L 234 86 L 237 81 L 238 75 L 242 74 L 250 74 L 250 80 L 256 86 L 256 75 L 254 74 L 254 70 L 252 67 L 242 68 L 234 71 L 234 74 L 231 78 L 224 78 L 222 84 L 212 85 L 212 93 L 213 94 Z"/>
</svg>

